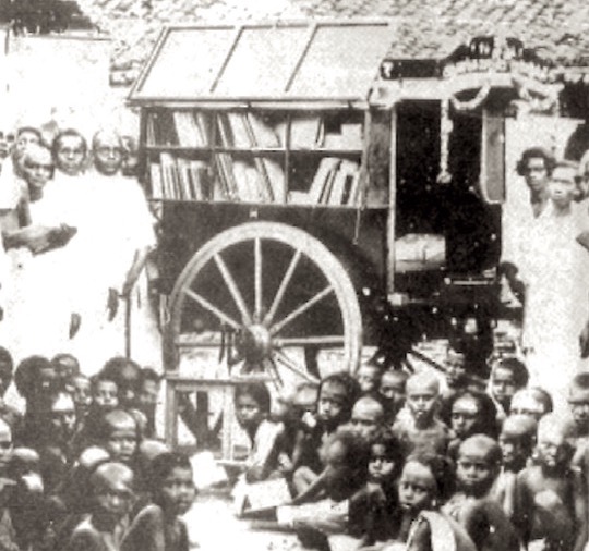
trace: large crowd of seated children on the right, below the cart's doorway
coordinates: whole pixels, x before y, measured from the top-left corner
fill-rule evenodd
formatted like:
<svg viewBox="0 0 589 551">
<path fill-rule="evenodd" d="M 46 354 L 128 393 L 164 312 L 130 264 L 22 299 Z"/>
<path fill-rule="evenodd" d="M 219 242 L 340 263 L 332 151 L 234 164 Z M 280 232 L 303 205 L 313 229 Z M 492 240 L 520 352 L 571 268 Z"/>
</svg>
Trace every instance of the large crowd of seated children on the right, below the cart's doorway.
<svg viewBox="0 0 589 551">
<path fill-rule="evenodd" d="M 563 417 L 517 357 L 494 358 L 486 388 L 460 343 L 448 359 L 445 380 L 363 365 L 304 382 L 274 414 L 264 384 L 240 387 L 244 479 L 284 478 L 293 497 L 273 522 L 321 550 L 333 535 L 371 550 L 586 549 L 589 372 Z"/>
</svg>

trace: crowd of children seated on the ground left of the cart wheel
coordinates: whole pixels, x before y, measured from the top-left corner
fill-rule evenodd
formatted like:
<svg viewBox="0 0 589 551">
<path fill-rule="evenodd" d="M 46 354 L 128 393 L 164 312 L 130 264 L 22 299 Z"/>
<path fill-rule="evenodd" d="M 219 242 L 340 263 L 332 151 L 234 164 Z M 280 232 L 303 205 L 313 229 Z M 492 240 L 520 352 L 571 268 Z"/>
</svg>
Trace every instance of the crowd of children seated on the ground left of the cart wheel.
<svg viewBox="0 0 589 551">
<path fill-rule="evenodd" d="M 154 438 L 153 370 L 113 357 L 88 379 L 59 354 L 13 372 L 0 348 L 0 381 L 26 404 L 1 401 L 0 549 L 188 551 L 193 470 Z"/>
</svg>

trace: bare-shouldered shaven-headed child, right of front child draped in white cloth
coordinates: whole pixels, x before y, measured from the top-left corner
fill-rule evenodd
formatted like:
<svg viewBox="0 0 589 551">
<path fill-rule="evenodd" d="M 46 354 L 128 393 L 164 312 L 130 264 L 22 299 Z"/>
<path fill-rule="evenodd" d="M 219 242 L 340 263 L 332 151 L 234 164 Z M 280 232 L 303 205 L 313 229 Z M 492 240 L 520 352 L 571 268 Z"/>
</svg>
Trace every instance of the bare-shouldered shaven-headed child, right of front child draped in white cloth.
<svg viewBox="0 0 589 551">
<path fill-rule="evenodd" d="M 457 491 L 443 511 L 458 522 L 478 550 L 519 551 L 517 532 L 491 493 L 498 475 L 501 449 L 484 434 L 465 440 L 458 449 Z"/>
</svg>

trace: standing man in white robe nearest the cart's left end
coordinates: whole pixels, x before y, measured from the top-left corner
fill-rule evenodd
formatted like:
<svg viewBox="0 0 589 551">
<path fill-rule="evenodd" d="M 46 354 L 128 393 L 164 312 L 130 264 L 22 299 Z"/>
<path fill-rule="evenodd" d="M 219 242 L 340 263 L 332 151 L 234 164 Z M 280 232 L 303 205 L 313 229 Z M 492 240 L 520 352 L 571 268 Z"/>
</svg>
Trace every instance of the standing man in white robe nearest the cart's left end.
<svg viewBox="0 0 589 551">
<path fill-rule="evenodd" d="M 124 354 L 125 311 L 120 298 L 131 296 L 147 254 L 155 246 L 153 220 L 143 191 L 136 181 L 120 174 L 120 136 L 111 131 L 98 132 L 92 142 L 92 155 L 94 170 L 88 170 L 85 221 L 80 233 L 81 237 L 84 233 L 85 249 L 81 266 L 85 274 L 81 278 L 88 298 L 82 313 L 77 350 L 86 375 L 98 371 L 110 357 Z M 146 299 L 141 307 L 142 311 L 136 304 L 133 308 L 140 319 L 146 315 Z M 153 355 L 142 358 L 140 350 L 133 351 L 133 358 L 154 359 Z"/>
</svg>

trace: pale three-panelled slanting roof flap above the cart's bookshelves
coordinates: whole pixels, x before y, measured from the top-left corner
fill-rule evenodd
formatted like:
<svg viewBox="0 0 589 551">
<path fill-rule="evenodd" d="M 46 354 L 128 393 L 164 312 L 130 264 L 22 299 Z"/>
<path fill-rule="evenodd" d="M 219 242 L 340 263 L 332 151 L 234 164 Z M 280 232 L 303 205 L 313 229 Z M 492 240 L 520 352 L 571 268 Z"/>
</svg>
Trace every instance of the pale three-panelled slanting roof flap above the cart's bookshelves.
<svg viewBox="0 0 589 551">
<path fill-rule="evenodd" d="M 393 40 L 389 22 L 168 27 L 133 103 L 365 103 Z"/>
</svg>

